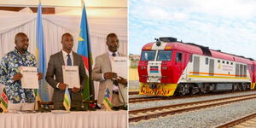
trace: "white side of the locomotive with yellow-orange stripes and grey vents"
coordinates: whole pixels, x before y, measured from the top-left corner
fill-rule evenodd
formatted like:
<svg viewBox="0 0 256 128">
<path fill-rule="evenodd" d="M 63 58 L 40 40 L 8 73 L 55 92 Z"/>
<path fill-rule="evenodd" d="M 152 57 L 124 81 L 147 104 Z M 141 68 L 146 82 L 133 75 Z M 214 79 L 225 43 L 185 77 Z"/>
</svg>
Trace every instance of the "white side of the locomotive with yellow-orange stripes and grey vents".
<svg viewBox="0 0 256 128">
<path fill-rule="evenodd" d="M 251 82 L 247 64 L 205 55 L 193 55 L 184 74 L 177 83 Z"/>
</svg>

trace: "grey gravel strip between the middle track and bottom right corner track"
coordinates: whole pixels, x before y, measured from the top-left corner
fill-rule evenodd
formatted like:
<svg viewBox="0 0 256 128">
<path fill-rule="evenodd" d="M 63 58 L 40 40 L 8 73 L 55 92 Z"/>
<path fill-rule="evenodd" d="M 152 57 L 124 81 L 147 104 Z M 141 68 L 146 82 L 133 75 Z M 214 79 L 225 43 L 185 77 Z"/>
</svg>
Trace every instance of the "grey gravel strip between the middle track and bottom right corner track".
<svg viewBox="0 0 256 128">
<path fill-rule="evenodd" d="M 130 128 L 209 128 L 256 112 L 256 99 L 130 123 Z"/>
</svg>

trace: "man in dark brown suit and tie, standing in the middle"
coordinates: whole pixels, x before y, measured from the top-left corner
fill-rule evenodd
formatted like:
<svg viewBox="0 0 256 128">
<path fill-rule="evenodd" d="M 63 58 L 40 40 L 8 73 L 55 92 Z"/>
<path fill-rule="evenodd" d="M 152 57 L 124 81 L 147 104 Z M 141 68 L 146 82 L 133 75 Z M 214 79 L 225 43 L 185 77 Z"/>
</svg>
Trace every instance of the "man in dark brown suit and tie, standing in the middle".
<svg viewBox="0 0 256 128">
<path fill-rule="evenodd" d="M 81 107 L 81 90 L 85 84 L 85 68 L 82 56 L 73 52 L 73 36 L 65 33 L 61 37 L 62 50 L 55 55 L 50 55 L 46 73 L 46 81 L 54 88 L 53 101 L 55 109 L 65 109 L 62 102 L 67 84 L 63 83 L 62 66 L 79 66 L 80 88 L 73 87 L 69 90 L 71 108 Z"/>
</svg>

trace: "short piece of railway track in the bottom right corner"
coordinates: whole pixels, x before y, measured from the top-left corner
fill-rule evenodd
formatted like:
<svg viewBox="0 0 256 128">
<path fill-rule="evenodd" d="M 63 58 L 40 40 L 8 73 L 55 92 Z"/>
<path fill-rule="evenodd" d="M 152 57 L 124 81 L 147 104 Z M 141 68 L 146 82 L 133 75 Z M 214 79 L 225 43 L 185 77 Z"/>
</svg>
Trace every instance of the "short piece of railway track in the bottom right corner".
<svg viewBox="0 0 256 128">
<path fill-rule="evenodd" d="M 219 125 L 217 128 L 247 128 L 256 127 L 256 113 L 242 117 L 241 119 L 235 119 L 224 125 Z"/>
</svg>

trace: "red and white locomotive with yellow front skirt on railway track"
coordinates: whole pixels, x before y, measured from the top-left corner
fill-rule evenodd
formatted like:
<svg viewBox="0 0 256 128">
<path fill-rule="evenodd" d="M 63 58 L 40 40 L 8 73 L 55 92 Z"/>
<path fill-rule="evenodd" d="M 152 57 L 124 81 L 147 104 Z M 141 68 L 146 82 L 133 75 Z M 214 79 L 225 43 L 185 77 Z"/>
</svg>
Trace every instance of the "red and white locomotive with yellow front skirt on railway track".
<svg viewBox="0 0 256 128">
<path fill-rule="evenodd" d="M 173 96 L 253 90 L 256 61 L 197 44 L 159 38 L 143 46 L 138 64 L 141 95 Z"/>
</svg>

